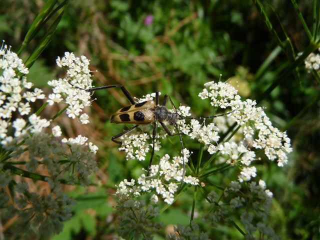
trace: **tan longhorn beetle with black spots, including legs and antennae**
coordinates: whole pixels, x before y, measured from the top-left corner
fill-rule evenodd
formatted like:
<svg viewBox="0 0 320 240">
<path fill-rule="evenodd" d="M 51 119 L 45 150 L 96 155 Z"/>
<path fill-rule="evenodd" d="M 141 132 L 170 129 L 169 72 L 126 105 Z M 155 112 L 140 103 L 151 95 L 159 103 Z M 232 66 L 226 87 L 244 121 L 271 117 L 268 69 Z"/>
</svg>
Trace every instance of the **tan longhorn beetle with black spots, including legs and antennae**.
<svg viewBox="0 0 320 240">
<path fill-rule="evenodd" d="M 71 84 L 71 83 L 70 83 Z M 72 85 L 72 84 L 71 84 Z M 179 139 L 180 139 L 180 145 L 181 145 L 181 149 L 182 149 L 182 165 L 183 165 L 183 174 L 182 177 L 184 176 L 184 172 L 185 172 L 185 163 L 184 163 L 184 155 L 183 155 L 183 141 L 182 141 L 182 137 L 181 137 L 181 133 L 177 124 L 178 120 L 181 119 L 199 119 L 199 120 L 205 120 L 207 118 L 214 118 L 217 116 L 223 116 L 226 114 L 231 113 L 232 111 L 226 112 L 226 113 L 222 113 L 222 114 L 218 114 L 218 115 L 213 115 L 213 116 L 206 116 L 206 117 L 184 117 L 179 115 L 179 113 L 177 112 L 176 107 L 174 106 L 172 99 L 169 95 L 165 94 L 163 96 L 162 102 L 159 105 L 159 92 L 156 91 L 155 92 L 155 101 L 154 100 L 147 100 L 147 101 L 143 101 L 143 102 L 135 102 L 135 100 L 133 99 L 133 97 L 130 95 L 130 93 L 125 89 L 124 86 L 120 85 L 120 84 L 114 84 L 114 85 L 106 85 L 106 86 L 98 86 L 98 87 L 93 87 L 93 88 L 88 88 L 88 89 L 84 89 L 78 86 L 74 86 L 76 88 L 88 91 L 88 92 L 93 92 L 96 90 L 101 90 L 101 89 L 106 89 L 106 88 L 111 88 L 111 87 L 120 87 L 120 89 L 122 90 L 123 94 L 126 96 L 126 98 L 130 101 L 131 105 L 129 106 L 125 106 L 120 108 L 119 110 L 117 110 L 112 116 L 111 116 L 111 122 L 114 123 L 133 123 L 135 124 L 134 126 L 122 131 L 119 134 L 116 134 L 115 136 L 112 136 L 111 140 L 118 143 L 118 144 L 122 144 L 121 141 L 116 140 L 117 138 L 125 135 L 126 133 L 132 131 L 133 129 L 135 129 L 138 125 L 140 124 L 149 124 L 152 123 L 153 124 L 153 130 L 152 130 L 152 151 L 151 151 L 151 157 L 150 157 L 150 162 L 148 165 L 148 173 L 149 174 L 149 170 L 152 164 L 152 158 L 154 155 L 154 144 L 155 144 L 155 134 L 156 134 L 156 121 L 158 121 L 161 126 L 163 127 L 163 129 L 165 130 L 165 132 L 169 135 L 169 136 L 174 136 L 174 135 L 179 135 Z M 169 99 L 172 107 L 173 107 L 173 111 L 171 112 L 168 110 L 168 108 L 166 108 L 166 101 L 167 98 Z M 165 122 L 168 122 L 170 125 L 173 125 L 176 129 L 176 133 L 172 133 L 170 131 L 170 129 L 165 125 Z"/>
</svg>

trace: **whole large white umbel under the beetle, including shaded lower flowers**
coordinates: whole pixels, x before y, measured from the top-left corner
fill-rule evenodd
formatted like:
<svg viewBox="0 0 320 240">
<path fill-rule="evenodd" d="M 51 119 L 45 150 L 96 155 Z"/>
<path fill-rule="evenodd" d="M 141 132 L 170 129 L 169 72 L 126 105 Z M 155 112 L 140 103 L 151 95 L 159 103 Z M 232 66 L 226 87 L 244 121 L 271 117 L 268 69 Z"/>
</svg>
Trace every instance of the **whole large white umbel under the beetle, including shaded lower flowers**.
<svg viewBox="0 0 320 240">
<path fill-rule="evenodd" d="M 177 124 L 179 131 L 183 133 L 182 137 L 189 137 L 201 142 L 211 157 L 205 159 L 206 161 L 202 159 L 204 169 L 200 169 L 198 175 L 194 172 L 188 175 L 189 172 L 186 171 L 185 176 L 182 177 L 182 158 L 187 163 L 192 153 L 185 148 L 183 149 L 183 154 L 181 154 L 182 157 L 171 156 L 169 154 L 160 157 L 159 163 L 151 166 L 149 176 L 145 176 L 143 173 L 137 180 L 131 179 L 128 181 L 124 179 L 121 181 L 117 185 L 115 193 L 119 225 L 121 225 L 119 232 L 120 234 L 123 233 L 121 236 L 128 237 L 128 232 L 125 232 L 124 229 L 126 227 L 131 228 L 132 225 L 134 225 L 134 229 L 138 229 L 137 227 L 139 227 L 141 232 L 147 232 L 148 228 L 143 228 L 139 224 L 140 220 L 137 219 L 136 215 L 141 215 L 141 212 L 143 212 L 143 216 L 147 215 L 145 209 L 149 209 L 148 207 L 156 209 L 155 205 L 159 204 L 161 199 L 167 204 L 173 203 L 179 190 L 178 185 L 181 182 L 187 183 L 189 186 L 204 187 L 203 181 L 207 179 L 205 174 L 201 175 L 201 170 L 205 172 L 205 167 L 212 169 L 215 164 L 224 162 L 231 167 L 238 168 L 237 179 L 231 180 L 230 185 L 224 190 L 224 196 L 226 198 L 234 194 L 236 196 L 229 197 L 226 203 L 224 203 L 219 202 L 221 197 L 215 192 L 210 193 L 212 196 L 210 194 L 207 195 L 207 199 L 211 199 L 209 201 L 211 208 L 208 210 L 208 214 L 203 215 L 203 221 L 214 225 L 223 219 L 227 219 L 228 214 L 231 212 L 229 208 L 240 210 L 251 207 L 253 209 L 252 212 L 244 210 L 240 219 L 247 230 L 247 236 L 252 237 L 251 234 L 257 230 L 270 238 L 274 237 L 276 239 L 273 230 L 265 224 L 271 205 L 272 192 L 266 189 L 263 180 L 259 180 L 259 184 L 257 185 L 255 181 L 252 181 L 252 178 L 258 175 L 254 164 L 260 158 L 256 157 L 256 150 L 263 150 L 267 159 L 276 161 L 278 166 L 283 166 L 287 163 L 287 154 L 292 151 L 290 139 L 285 132 L 281 132 L 272 126 L 262 107 L 256 106 L 254 100 L 241 100 L 236 89 L 226 82 L 207 82 L 198 96 L 202 100 L 209 100 L 214 110 L 222 109 L 225 112 L 229 112 L 225 116 L 214 118 L 211 122 L 208 119 L 190 120 L 183 119 L 183 117 L 191 115 L 189 112 L 190 107 L 179 106 L 178 113 L 181 119 L 178 120 Z M 150 97 L 152 95 L 143 97 L 140 100 L 150 99 Z M 237 123 L 238 127 L 225 137 L 227 140 L 220 139 L 221 134 L 234 122 Z M 166 132 L 161 130 L 160 127 L 158 129 L 160 130 L 155 135 L 156 151 L 160 149 L 161 145 L 164 146 L 164 141 L 166 140 Z M 173 128 L 170 130 L 174 132 Z M 145 160 L 146 153 L 152 146 L 152 130 L 150 126 L 141 126 L 138 131 L 131 131 L 123 135 L 121 139 L 122 145 L 119 149 L 125 151 L 127 160 Z M 201 181 L 200 186 L 199 181 Z M 237 195 L 240 192 L 242 184 L 245 186 L 245 189 L 249 189 L 247 195 L 243 194 L 244 191 Z M 140 204 L 138 198 L 141 195 L 145 195 L 149 199 L 148 205 L 145 205 L 145 203 Z M 250 205 L 252 202 L 254 204 L 253 207 Z M 132 207 L 128 207 L 128 205 L 139 207 L 134 208 L 135 213 L 133 215 L 132 211 L 130 214 L 123 213 L 129 209 L 133 209 Z M 229 207 L 226 205 L 229 205 Z M 257 216 L 253 218 L 255 213 Z M 150 215 L 154 217 L 154 214 L 157 214 L 157 211 L 152 211 Z M 152 217 L 149 217 L 149 220 Z M 253 223 L 253 219 L 257 220 L 257 223 Z M 151 224 L 151 220 L 148 224 Z M 186 232 L 189 230 L 185 229 Z M 202 236 L 205 239 L 205 234 Z M 174 235 L 168 237 L 168 239 L 172 237 L 175 239 Z"/>
</svg>

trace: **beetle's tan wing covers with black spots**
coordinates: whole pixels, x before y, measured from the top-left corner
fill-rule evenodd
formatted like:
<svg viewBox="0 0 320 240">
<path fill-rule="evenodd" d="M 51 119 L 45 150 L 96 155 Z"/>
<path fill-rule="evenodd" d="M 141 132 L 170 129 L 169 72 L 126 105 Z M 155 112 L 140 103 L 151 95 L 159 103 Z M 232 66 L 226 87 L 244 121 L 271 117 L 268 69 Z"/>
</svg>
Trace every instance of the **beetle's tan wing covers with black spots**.
<svg viewBox="0 0 320 240">
<path fill-rule="evenodd" d="M 117 110 L 111 116 L 111 122 L 138 124 L 150 123 L 154 121 L 154 108 L 155 102 L 153 100 L 143 101 L 134 105 L 125 106 Z"/>
</svg>

